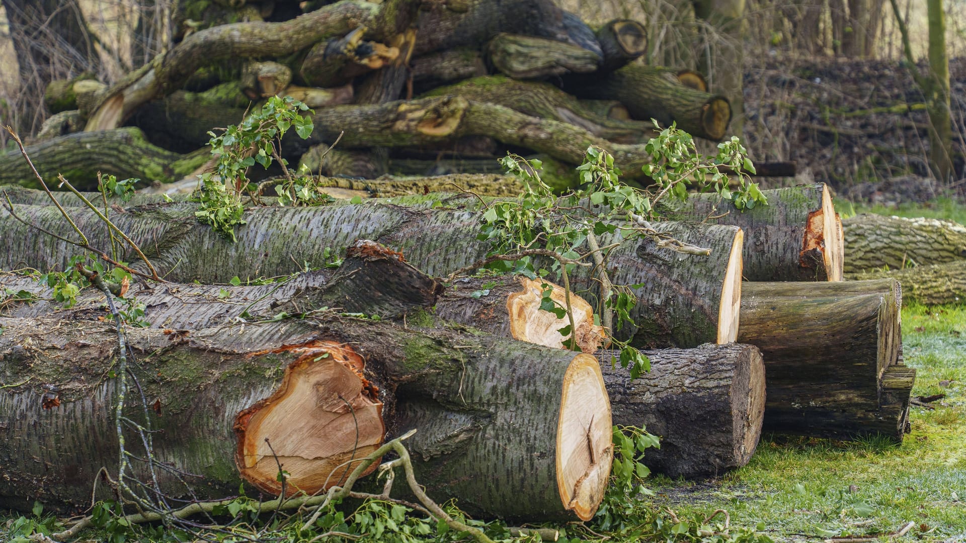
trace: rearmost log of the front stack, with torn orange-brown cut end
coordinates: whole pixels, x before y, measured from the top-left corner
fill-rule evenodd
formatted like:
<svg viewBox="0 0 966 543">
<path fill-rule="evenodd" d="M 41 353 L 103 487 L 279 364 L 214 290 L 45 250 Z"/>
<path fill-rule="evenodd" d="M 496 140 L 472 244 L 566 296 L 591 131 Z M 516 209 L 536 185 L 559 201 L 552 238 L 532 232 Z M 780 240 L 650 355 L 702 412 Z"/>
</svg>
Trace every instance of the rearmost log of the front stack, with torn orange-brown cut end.
<svg viewBox="0 0 966 543">
<path fill-rule="evenodd" d="M 745 231 L 745 279 L 749 281 L 840 281 L 842 234 L 832 196 L 824 184 L 762 191 L 767 206 L 738 210 L 717 194 L 666 200 L 661 214 L 733 224 Z"/>
</svg>

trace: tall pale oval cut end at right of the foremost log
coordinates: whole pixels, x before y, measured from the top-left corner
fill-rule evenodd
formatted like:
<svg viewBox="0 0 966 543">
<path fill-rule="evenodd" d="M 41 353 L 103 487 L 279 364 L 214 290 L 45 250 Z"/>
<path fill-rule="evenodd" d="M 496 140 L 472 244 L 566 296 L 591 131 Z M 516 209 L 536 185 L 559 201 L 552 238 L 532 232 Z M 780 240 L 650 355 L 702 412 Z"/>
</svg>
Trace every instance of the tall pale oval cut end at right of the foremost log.
<svg viewBox="0 0 966 543">
<path fill-rule="evenodd" d="M 564 507 L 590 520 L 604 497 L 613 460 L 611 402 L 597 358 L 574 357 L 563 378 L 556 430 L 556 484 Z"/>
</svg>

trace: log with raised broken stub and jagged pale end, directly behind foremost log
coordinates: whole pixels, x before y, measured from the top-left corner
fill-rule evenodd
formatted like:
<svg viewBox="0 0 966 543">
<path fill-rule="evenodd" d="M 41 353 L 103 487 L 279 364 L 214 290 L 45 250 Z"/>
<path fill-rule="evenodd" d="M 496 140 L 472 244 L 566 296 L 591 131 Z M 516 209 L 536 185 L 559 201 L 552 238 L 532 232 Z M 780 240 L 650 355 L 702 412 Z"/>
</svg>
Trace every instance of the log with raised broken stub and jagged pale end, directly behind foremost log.
<svg viewBox="0 0 966 543">
<path fill-rule="evenodd" d="M 356 299 L 355 293 L 380 284 L 377 296 Z M 544 286 L 546 285 L 546 287 Z M 29 293 L 33 301 L 0 303 L 0 316 L 62 320 L 99 320 L 108 314 L 104 297 L 96 289 L 77 295 L 63 307 L 52 290 L 35 277 L 0 274 L 0 288 Z M 303 314 L 322 307 L 349 313 L 365 312 L 396 319 L 417 328 L 460 323 L 492 333 L 557 349 L 566 348 L 569 336 L 559 332 L 569 318 L 541 309 L 547 290 L 558 307 L 566 307 L 562 287 L 523 275 L 464 277 L 443 286 L 407 264 L 400 253 L 377 243 L 360 241 L 349 247 L 337 269 L 298 273 L 263 285 L 138 284 L 126 296 L 144 304 L 143 320 L 151 328 L 207 329 L 242 321 L 260 321 L 280 313 Z M 391 296 L 390 296 L 391 295 Z M 607 333 L 594 325 L 593 308 L 577 295 L 571 297 L 577 345 L 594 353 L 608 343 Z M 408 313 L 408 315 L 407 315 Z"/>
</svg>

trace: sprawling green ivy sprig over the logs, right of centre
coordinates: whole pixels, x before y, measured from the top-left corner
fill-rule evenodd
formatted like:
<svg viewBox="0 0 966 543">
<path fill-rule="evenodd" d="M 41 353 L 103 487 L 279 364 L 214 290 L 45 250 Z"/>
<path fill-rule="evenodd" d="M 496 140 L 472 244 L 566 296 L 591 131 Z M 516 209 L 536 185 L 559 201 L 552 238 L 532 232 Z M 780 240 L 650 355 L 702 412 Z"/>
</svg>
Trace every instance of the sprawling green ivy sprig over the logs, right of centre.
<svg viewBox="0 0 966 543">
<path fill-rule="evenodd" d="M 636 237 L 657 237 L 648 219 L 654 218 L 654 204 L 666 197 L 685 199 L 688 187 L 713 189 L 741 209 L 766 204 L 764 195 L 755 184 L 747 182 L 747 175 L 739 174 L 740 185 L 731 190 L 728 177 L 722 168 L 754 171 L 752 161 L 737 138 L 718 146 L 715 157 L 702 157 L 695 148 L 694 140 L 687 132 L 670 127 L 647 143 L 652 163 L 644 166 L 651 176 L 657 192 L 639 190 L 620 183 L 620 170 L 614 167 L 613 157 L 597 147 L 587 148 L 582 164 L 577 168 L 581 186 L 559 197 L 540 179 L 540 160 L 526 160 L 509 155 L 501 159 L 502 166 L 524 184 L 524 193 L 513 200 L 491 202 L 483 213 L 481 241 L 491 243 L 490 256 L 542 249 L 558 258 L 524 257 L 512 261 L 497 260 L 490 268 L 501 272 L 524 273 L 531 278 L 560 274 L 564 282 L 578 266 L 577 261 L 593 256 L 604 263 L 611 248 Z M 710 180 L 710 181 L 708 181 Z M 589 247 L 597 239 L 607 239 L 611 245 L 600 246 L 596 251 Z M 597 252 L 597 255 L 592 253 Z M 595 278 L 602 284 L 606 266 L 594 267 Z M 642 285 L 612 285 L 603 295 L 598 313 L 609 311 L 615 316 L 613 331 L 633 325 L 631 310 L 637 303 L 634 289 Z M 566 285 L 565 285 L 566 287 Z M 570 307 L 560 305 L 550 297 L 549 285 L 544 285 L 541 308 L 554 313 L 557 318 L 568 315 Z M 568 293 L 569 296 L 569 293 Z M 558 330 L 569 337 L 568 346 L 577 348 L 577 339 L 570 324 Z M 632 378 L 650 369 L 650 361 L 639 350 L 626 342 L 612 340 L 620 350 L 612 362 L 630 367 Z"/>
</svg>

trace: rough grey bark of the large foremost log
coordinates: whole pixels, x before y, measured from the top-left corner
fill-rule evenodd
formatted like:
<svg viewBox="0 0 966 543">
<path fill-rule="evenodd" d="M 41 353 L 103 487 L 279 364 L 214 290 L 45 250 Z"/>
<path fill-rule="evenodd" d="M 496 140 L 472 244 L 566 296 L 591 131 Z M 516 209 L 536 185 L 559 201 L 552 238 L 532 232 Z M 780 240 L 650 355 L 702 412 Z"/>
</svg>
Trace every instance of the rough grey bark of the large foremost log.
<svg viewBox="0 0 966 543">
<path fill-rule="evenodd" d="M 114 381 L 103 379 L 116 355 L 116 332 L 90 321 L 0 318 L 0 327 L 0 379 L 14 385 L 0 390 L 6 475 L 0 478 L 0 503 L 21 510 L 33 500 L 51 508 L 86 507 L 99 468 L 117 461 Z M 407 447 L 417 479 L 434 499 L 457 498 L 468 511 L 488 516 L 574 518 L 557 491 L 557 472 L 567 466 L 557 466 L 554 454 L 532 452 L 554 451 L 564 378 L 575 360 L 586 358 L 593 364 L 590 374 L 571 379 L 593 378 L 593 357 L 452 329 L 419 332 L 345 317 L 248 324 L 243 332 L 241 325 L 186 334 L 131 329 L 128 339 L 149 368 L 140 383 L 160 412 L 154 417 L 156 457 L 201 475 L 192 481 L 202 499 L 238 492 L 233 458 L 243 436 L 233 435 L 236 415 L 276 389 L 281 370 L 299 358 L 292 346 L 329 340 L 352 344 L 364 357 L 366 378 L 381 386 L 389 439 L 418 427 Z M 41 396 L 51 389 L 60 405 L 44 410 Z M 142 418 L 137 406 L 130 405 L 130 412 Z M 592 434 L 609 436 L 610 423 L 610 413 L 595 414 Z M 136 443 L 133 436 L 127 441 Z M 608 473 L 611 444 L 600 441 L 594 452 Z M 585 439 L 582 445 L 577 456 L 589 456 Z M 473 472 L 478 476 L 467 476 Z M 169 473 L 159 477 L 166 491 L 186 497 Z M 585 484 L 600 486 L 590 492 L 596 509 L 603 486 L 596 480 Z M 99 485 L 96 497 L 109 497 L 106 485 Z M 581 518 L 588 518 L 585 513 Z"/>
</svg>

